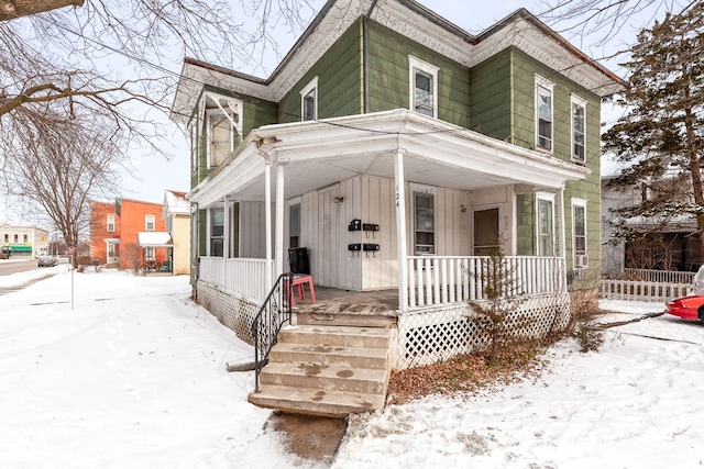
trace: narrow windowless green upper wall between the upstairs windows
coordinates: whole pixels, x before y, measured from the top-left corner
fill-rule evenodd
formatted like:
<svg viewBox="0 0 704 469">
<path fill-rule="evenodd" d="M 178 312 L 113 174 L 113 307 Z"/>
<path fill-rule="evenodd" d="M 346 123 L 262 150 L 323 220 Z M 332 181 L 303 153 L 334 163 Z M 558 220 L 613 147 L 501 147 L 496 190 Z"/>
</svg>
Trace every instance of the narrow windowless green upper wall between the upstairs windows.
<svg viewBox="0 0 704 469">
<path fill-rule="evenodd" d="M 499 139 L 510 137 L 510 52 L 504 51 L 472 68 L 473 131 Z"/>
</svg>

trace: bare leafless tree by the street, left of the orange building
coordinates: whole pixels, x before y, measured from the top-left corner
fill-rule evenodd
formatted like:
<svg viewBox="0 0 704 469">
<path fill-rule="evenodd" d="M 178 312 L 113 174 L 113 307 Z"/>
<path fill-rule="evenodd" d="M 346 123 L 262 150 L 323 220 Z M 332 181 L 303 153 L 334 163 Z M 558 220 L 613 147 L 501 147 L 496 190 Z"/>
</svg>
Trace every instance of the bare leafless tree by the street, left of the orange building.
<svg viewBox="0 0 704 469">
<path fill-rule="evenodd" d="M 72 120 L 52 114 L 38 123 L 15 127 L 0 144 L 13 155 L 3 167 L 6 191 L 31 201 L 77 246 L 88 228 L 89 198 L 112 193 L 114 168 L 125 158 L 121 134 L 108 116 L 80 114 Z"/>
</svg>

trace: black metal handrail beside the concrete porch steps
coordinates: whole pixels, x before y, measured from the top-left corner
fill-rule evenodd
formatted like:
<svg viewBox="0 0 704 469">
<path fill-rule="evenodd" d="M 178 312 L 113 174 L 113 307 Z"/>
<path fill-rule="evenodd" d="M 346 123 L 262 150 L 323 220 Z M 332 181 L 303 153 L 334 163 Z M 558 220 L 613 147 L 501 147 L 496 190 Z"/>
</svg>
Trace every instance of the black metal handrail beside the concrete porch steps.
<svg viewBox="0 0 704 469">
<path fill-rule="evenodd" d="M 268 354 L 276 345 L 276 336 L 282 326 L 290 324 L 292 293 L 294 273 L 282 273 L 268 292 L 262 308 L 252 322 L 252 340 L 254 343 L 254 391 L 260 390 L 260 372 L 268 361 Z"/>
</svg>

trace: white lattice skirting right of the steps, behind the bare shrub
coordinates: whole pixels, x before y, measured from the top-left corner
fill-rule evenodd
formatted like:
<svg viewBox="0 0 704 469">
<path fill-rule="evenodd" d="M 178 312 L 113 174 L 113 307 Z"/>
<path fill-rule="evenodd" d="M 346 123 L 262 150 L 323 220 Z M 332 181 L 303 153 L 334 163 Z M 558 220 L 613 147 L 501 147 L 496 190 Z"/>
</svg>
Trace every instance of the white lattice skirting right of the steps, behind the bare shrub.
<svg viewBox="0 0 704 469">
<path fill-rule="evenodd" d="M 570 319 L 570 294 L 550 293 L 521 300 L 507 319 L 508 326 L 524 337 L 541 337 L 562 330 Z M 397 369 L 432 365 L 469 354 L 486 343 L 468 304 L 441 310 L 410 312 L 398 316 Z"/>
</svg>

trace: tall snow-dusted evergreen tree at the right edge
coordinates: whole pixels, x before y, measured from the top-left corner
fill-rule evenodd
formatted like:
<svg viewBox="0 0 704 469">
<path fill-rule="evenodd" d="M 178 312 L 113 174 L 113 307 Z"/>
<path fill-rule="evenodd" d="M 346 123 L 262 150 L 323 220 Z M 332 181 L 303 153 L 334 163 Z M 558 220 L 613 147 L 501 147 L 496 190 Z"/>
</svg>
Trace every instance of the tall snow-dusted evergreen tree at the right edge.
<svg viewBox="0 0 704 469">
<path fill-rule="evenodd" d="M 642 203 L 615 211 L 617 236 L 636 238 L 675 216 L 696 220 L 704 256 L 704 3 L 638 35 L 630 49 L 629 87 L 620 102 L 630 108 L 603 135 L 604 149 L 625 164 L 610 186 L 642 190 Z M 629 221 L 631 223 L 629 223 Z M 641 223 L 642 224 L 642 223 Z M 704 258 L 702 259 L 704 264 Z"/>
</svg>

